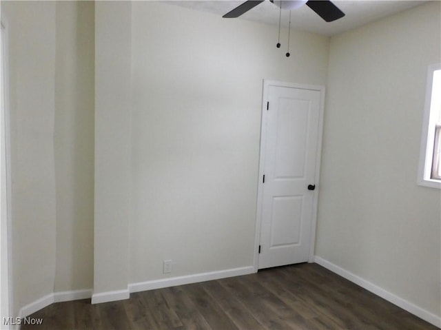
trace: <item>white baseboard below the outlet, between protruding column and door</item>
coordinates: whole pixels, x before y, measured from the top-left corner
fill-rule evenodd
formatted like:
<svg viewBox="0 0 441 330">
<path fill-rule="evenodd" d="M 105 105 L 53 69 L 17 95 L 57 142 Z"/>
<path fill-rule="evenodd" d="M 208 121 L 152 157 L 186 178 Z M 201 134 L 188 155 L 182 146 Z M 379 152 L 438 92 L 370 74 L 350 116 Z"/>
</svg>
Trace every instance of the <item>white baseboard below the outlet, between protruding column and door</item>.
<svg viewBox="0 0 441 330">
<path fill-rule="evenodd" d="M 161 289 L 163 287 L 174 287 L 176 285 L 186 285 L 190 283 L 205 282 L 207 280 L 218 280 L 219 278 L 242 276 L 253 273 L 256 273 L 256 270 L 253 266 L 249 266 L 234 269 L 225 269 L 223 271 L 212 271 L 209 273 L 178 276 L 173 278 L 162 278 L 161 280 L 150 280 L 146 282 L 132 283 L 129 285 L 129 291 L 139 292 L 153 289 Z"/>
</svg>

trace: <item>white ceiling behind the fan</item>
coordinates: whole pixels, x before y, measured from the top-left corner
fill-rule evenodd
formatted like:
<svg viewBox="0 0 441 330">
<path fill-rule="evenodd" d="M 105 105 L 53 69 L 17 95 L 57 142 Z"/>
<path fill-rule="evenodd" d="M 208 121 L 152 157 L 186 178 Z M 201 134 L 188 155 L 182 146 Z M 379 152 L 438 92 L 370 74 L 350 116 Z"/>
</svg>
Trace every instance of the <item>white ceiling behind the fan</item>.
<svg viewBox="0 0 441 330">
<path fill-rule="evenodd" d="M 439 0 L 438 0 L 439 1 Z M 176 6 L 183 6 L 194 10 L 203 10 L 205 12 L 212 12 L 218 17 L 222 17 L 233 8 L 236 8 L 243 1 L 229 1 L 229 0 L 211 0 L 211 1 L 167 1 Z M 422 0 L 336 0 L 333 3 L 345 12 L 345 17 L 337 21 L 327 23 L 323 21 L 315 12 L 308 6 L 302 6 L 296 10 L 291 11 L 291 28 L 295 30 L 303 30 L 314 32 L 323 35 L 334 35 L 340 32 L 357 28 L 371 21 L 376 21 L 382 17 L 389 16 L 402 10 L 418 6 L 424 2 Z M 241 17 L 237 19 L 247 19 L 249 21 L 259 21 L 262 23 L 269 23 L 278 25 L 279 8 L 273 3 L 265 1 L 258 6 L 252 8 Z M 289 11 L 282 10 L 282 25 L 287 26 L 289 21 Z"/>
</svg>

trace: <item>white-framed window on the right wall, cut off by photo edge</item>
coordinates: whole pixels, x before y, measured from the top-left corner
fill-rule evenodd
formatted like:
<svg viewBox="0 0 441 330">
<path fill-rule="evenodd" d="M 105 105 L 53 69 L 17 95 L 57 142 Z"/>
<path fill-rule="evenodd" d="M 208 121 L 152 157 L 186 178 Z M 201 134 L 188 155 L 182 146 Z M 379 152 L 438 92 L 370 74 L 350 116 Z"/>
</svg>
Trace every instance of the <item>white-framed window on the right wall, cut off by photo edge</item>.
<svg viewBox="0 0 441 330">
<path fill-rule="evenodd" d="M 441 188 L 441 64 L 429 65 L 418 184 Z"/>
</svg>

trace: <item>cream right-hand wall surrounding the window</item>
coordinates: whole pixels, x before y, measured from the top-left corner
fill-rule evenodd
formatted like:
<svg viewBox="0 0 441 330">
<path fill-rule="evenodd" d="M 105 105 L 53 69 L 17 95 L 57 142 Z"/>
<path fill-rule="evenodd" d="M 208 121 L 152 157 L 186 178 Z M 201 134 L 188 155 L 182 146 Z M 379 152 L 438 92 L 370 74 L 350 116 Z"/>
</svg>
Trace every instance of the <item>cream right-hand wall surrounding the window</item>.
<svg viewBox="0 0 441 330">
<path fill-rule="evenodd" d="M 440 2 L 331 38 L 316 254 L 440 316 L 440 190 L 416 185 Z"/>
</svg>

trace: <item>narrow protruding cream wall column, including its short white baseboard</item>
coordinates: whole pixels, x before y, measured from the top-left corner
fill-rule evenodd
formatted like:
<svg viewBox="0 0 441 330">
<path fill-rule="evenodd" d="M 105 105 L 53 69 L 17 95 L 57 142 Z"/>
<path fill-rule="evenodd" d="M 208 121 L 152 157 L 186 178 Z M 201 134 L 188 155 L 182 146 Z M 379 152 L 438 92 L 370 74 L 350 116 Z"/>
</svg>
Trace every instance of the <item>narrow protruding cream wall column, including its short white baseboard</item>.
<svg viewBox="0 0 441 330">
<path fill-rule="evenodd" d="M 128 298 L 130 1 L 95 3 L 94 295 Z M 112 295 L 107 293 L 112 291 Z M 116 292 L 116 293 L 115 293 Z"/>
</svg>

